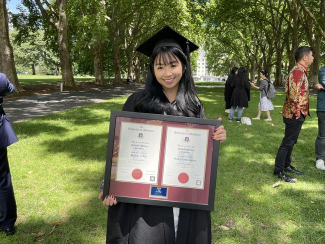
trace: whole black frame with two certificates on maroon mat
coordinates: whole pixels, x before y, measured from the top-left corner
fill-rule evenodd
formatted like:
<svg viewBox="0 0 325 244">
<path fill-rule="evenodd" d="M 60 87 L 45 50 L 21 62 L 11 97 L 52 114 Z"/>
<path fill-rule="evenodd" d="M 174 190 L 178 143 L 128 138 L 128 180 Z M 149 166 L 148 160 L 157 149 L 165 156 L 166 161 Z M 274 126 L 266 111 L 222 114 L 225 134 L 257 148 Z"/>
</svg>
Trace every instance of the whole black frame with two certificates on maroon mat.
<svg viewBox="0 0 325 244">
<path fill-rule="evenodd" d="M 103 197 L 213 210 L 220 120 L 111 111 Z"/>
</svg>

